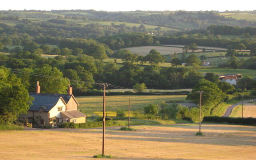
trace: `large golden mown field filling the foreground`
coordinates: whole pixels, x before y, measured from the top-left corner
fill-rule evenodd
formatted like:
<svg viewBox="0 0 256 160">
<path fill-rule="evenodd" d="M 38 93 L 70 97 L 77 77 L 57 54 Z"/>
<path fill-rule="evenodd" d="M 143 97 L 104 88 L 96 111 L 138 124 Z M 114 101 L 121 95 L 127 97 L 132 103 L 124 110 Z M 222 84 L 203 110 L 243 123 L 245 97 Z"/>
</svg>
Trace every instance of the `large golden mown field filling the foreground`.
<svg viewBox="0 0 256 160">
<path fill-rule="evenodd" d="M 105 154 L 114 160 L 254 160 L 255 126 L 196 124 L 106 129 Z M 95 160 L 101 129 L 0 131 L 1 160 Z"/>
</svg>

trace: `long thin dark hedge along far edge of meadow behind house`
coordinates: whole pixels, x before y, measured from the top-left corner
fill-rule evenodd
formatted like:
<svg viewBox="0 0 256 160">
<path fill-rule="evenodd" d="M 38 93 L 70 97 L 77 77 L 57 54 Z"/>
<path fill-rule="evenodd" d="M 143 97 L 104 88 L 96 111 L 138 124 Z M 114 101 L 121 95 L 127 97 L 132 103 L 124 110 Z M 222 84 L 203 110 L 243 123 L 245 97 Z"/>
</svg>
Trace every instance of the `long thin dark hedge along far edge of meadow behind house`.
<svg viewBox="0 0 256 160">
<path fill-rule="evenodd" d="M 132 92 L 132 91 L 125 91 L 125 92 L 106 92 L 106 96 L 119 96 L 119 95 L 161 95 L 158 93 L 164 94 L 181 94 L 186 95 L 190 91 L 177 91 L 177 92 Z M 156 93 L 156 94 L 154 94 Z M 183 94 L 184 93 L 184 94 Z M 86 92 L 75 93 L 75 96 L 102 96 L 103 90 L 87 90 Z"/>
</svg>

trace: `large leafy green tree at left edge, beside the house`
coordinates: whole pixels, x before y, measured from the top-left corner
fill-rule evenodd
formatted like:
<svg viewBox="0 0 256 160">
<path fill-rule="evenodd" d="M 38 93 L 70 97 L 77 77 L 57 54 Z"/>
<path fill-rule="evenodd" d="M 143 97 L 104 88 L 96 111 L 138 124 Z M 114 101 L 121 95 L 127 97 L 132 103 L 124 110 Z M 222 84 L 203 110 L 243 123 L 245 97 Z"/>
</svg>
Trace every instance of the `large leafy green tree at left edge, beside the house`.
<svg viewBox="0 0 256 160">
<path fill-rule="evenodd" d="M 7 68 L 0 69 L 0 124 L 14 122 L 20 114 L 28 112 L 32 98 L 20 78 Z"/>
</svg>

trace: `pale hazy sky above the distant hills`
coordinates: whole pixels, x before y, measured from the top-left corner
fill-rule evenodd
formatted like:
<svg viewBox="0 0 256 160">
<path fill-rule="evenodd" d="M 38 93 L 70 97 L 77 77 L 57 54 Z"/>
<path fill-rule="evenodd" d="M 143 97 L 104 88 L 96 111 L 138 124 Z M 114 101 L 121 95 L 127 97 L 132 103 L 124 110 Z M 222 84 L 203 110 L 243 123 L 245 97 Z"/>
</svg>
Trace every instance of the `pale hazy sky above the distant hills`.
<svg viewBox="0 0 256 160">
<path fill-rule="evenodd" d="M 256 0 L 3 0 L 0 10 L 256 10 Z"/>
</svg>

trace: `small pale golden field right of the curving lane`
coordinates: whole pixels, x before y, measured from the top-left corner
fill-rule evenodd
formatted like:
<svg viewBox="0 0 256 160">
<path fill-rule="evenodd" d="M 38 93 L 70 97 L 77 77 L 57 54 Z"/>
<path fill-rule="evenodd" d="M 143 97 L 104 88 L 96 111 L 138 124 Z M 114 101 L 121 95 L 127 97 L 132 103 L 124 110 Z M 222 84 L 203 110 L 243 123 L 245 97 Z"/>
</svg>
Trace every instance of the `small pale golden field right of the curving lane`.
<svg viewBox="0 0 256 160">
<path fill-rule="evenodd" d="M 236 106 L 230 117 L 242 117 L 242 105 Z M 256 103 L 246 103 L 244 104 L 244 117 L 256 118 Z"/>
</svg>

